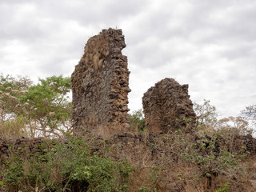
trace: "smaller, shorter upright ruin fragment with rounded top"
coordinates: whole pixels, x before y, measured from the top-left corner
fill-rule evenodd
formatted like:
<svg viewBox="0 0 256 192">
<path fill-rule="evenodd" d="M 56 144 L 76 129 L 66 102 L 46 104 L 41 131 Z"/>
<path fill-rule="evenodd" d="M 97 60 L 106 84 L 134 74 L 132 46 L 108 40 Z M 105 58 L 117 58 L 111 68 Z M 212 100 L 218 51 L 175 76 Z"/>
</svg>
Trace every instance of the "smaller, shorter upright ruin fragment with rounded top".
<svg viewBox="0 0 256 192">
<path fill-rule="evenodd" d="M 191 130 L 196 114 L 188 94 L 188 85 L 165 78 L 146 91 L 142 98 L 146 130 L 150 133 L 169 130 Z"/>
</svg>

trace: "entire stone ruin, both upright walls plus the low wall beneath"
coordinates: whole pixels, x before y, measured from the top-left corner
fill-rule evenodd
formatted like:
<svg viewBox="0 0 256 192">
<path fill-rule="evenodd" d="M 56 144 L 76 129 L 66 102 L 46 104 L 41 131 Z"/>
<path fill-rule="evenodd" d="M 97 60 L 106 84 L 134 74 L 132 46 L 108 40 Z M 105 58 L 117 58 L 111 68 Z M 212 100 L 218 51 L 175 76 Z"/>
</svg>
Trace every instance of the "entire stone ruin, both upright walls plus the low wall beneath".
<svg viewBox="0 0 256 192">
<path fill-rule="evenodd" d="M 121 53 L 125 46 L 122 30 L 102 30 L 101 34 L 87 42 L 85 54 L 71 77 L 74 134 L 81 135 L 86 131 L 93 134 L 111 134 L 129 130 L 127 94 L 130 92 L 130 72 L 127 69 L 127 58 Z M 95 137 L 93 142 L 85 140 L 93 143 L 94 147 L 90 152 L 98 151 L 99 147 L 104 146 L 117 152 L 111 153 L 112 158 L 120 160 L 128 157 L 130 162 L 143 167 L 145 157 L 146 161 L 150 159 L 152 162 L 158 162 L 162 157 L 174 158 L 170 150 L 172 145 L 163 142 L 160 135 L 168 135 L 168 132 L 171 134 L 178 129 L 193 130 L 196 115 L 188 95 L 188 85 L 181 86 L 173 78 L 165 78 L 146 91 L 142 102 L 146 129 L 150 134 L 113 134 L 105 142 L 101 137 Z M 197 134 L 191 135 L 194 135 L 194 141 L 198 145 L 201 142 L 210 145 L 212 141 L 207 135 L 205 138 L 208 140 Z M 65 140 L 61 142 L 66 143 Z M 47 142 L 46 138 L 8 139 L 0 136 L 0 161 L 13 154 L 21 154 L 22 158 L 44 154 L 51 150 L 50 145 L 54 145 L 54 142 L 50 139 Z M 217 154 L 222 149 L 221 146 L 237 154 L 244 153 L 241 150 L 243 146 L 249 154 L 256 154 L 256 139 L 250 134 L 237 134 L 229 139 L 220 138 L 214 146 Z M 207 151 L 202 152 L 207 154 Z"/>
</svg>

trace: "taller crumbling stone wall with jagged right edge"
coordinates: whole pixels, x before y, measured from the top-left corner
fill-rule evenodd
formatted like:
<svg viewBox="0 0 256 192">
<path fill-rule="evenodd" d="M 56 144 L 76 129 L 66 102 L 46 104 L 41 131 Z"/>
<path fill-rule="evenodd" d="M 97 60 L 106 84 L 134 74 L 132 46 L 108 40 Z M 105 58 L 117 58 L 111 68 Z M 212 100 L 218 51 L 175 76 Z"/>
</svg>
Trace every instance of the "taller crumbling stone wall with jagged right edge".
<svg viewBox="0 0 256 192">
<path fill-rule="evenodd" d="M 74 133 L 113 134 L 129 129 L 129 74 L 122 30 L 102 30 L 88 40 L 71 76 Z"/>
</svg>

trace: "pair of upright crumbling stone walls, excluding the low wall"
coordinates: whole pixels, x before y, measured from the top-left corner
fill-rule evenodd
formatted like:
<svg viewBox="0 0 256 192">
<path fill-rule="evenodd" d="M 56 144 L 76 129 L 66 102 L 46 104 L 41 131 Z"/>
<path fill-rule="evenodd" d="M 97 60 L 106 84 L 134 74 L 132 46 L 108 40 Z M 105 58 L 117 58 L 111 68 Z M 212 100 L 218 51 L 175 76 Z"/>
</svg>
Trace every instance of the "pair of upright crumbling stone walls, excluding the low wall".
<svg viewBox="0 0 256 192">
<path fill-rule="evenodd" d="M 74 134 L 109 135 L 130 130 L 129 74 L 122 30 L 102 30 L 88 40 L 71 76 Z M 194 127 L 196 115 L 188 85 L 165 78 L 142 98 L 149 133 Z M 188 121 L 189 120 L 189 121 Z"/>
</svg>

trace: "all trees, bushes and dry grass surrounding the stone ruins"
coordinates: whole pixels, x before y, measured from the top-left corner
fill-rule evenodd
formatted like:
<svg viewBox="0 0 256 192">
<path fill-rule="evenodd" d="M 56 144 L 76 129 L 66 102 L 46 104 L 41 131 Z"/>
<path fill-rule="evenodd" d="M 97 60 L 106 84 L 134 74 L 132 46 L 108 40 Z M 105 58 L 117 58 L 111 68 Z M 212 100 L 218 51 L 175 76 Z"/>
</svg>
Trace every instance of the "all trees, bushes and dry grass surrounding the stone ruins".
<svg viewBox="0 0 256 192">
<path fill-rule="evenodd" d="M 48 138 L 34 154 L 9 145 L 10 155 L 0 157 L 0 191 L 254 191 L 255 155 L 235 139 L 252 134 L 247 120 L 256 126 L 256 105 L 243 117 L 219 119 L 210 101 L 194 103 L 194 134 L 158 136 L 146 134 L 143 111 L 134 111 L 130 123 L 140 142 L 127 136 L 123 146 L 114 138 L 73 137 L 69 93 L 70 78 L 35 85 L 0 75 L 0 136 Z"/>
</svg>

